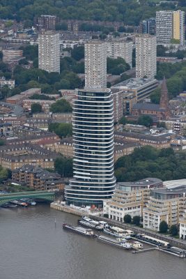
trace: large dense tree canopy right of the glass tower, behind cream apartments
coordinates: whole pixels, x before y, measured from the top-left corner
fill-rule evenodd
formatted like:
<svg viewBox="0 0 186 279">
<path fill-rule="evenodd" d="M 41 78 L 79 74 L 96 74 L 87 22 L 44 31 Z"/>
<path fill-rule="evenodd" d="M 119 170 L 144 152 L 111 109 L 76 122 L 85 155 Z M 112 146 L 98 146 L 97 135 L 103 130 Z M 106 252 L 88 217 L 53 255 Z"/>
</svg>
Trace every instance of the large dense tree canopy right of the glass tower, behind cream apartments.
<svg viewBox="0 0 186 279">
<path fill-rule="evenodd" d="M 155 149 L 143 146 L 130 155 L 118 158 L 115 163 L 117 181 L 137 181 L 146 177 L 158 179 L 185 179 L 186 153 L 173 149 Z"/>
</svg>

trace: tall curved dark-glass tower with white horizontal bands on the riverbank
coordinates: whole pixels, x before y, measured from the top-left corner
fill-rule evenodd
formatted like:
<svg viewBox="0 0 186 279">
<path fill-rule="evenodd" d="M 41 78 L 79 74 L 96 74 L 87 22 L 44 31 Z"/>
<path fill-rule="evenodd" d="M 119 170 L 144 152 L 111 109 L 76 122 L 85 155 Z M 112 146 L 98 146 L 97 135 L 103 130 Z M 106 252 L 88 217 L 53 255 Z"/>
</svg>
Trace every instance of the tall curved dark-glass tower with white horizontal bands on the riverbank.
<svg viewBox="0 0 186 279">
<path fill-rule="evenodd" d="M 116 185 L 111 90 L 79 90 L 73 114 L 73 179 L 65 188 L 65 200 L 77 206 L 102 206 Z"/>
</svg>

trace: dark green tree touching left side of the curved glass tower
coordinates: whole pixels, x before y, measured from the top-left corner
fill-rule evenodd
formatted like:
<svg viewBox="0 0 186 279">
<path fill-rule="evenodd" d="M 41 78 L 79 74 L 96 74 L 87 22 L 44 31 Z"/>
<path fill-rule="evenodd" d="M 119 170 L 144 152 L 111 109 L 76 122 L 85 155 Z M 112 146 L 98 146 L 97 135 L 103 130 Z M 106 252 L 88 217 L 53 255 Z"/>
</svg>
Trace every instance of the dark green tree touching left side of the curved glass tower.
<svg viewBox="0 0 186 279">
<path fill-rule="evenodd" d="M 54 161 L 54 169 L 62 177 L 72 177 L 72 158 L 60 156 Z"/>
</svg>

